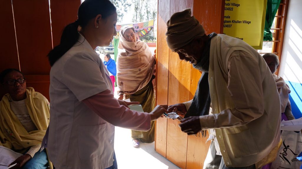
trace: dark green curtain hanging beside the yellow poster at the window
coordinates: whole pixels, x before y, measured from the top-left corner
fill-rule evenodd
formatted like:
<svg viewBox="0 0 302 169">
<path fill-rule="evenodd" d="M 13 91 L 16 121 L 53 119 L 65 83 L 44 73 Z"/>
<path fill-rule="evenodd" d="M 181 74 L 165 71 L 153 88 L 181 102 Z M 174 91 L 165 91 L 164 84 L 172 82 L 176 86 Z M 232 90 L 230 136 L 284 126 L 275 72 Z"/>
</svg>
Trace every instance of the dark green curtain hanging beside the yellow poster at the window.
<svg viewBox="0 0 302 169">
<path fill-rule="evenodd" d="M 273 40 L 270 29 L 273 25 L 280 1 L 281 0 L 267 0 L 263 41 Z"/>
</svg>

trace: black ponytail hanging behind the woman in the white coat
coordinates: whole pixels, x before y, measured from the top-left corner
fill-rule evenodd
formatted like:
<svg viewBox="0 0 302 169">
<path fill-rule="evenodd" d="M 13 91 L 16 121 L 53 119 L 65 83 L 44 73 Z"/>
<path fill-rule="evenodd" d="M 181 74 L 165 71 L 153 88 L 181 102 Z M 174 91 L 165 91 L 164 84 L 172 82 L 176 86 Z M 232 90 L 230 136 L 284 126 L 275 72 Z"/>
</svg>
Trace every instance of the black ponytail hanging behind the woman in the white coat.
<svg viewBox="0 0 302 169">
<path fill-rule="evenodd" d="M 78 21 L 67 25 L 62 33 L 61 42 L 48 53 L 50 66 L 53 66 L 59 58 L 61 58 L 78 40 Z"/>
</svg>

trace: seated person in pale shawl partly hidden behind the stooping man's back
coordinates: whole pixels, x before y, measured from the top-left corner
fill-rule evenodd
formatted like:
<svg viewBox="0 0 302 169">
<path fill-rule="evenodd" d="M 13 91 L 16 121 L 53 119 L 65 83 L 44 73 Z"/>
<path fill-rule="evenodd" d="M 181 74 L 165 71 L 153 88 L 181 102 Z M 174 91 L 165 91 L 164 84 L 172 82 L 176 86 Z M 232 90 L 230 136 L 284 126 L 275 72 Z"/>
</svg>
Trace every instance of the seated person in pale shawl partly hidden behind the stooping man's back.
<svg viewBox="0 0 302 169">
<path fill-rule="evenodd" d="M 291 102 L 289 101 L 289 94 L 291 93 L 291 90 L 282 77 L 275 75 L 275 72 L 280 64 L 278 56 L 273 53 L 268 53 L 264 54 L 262 57 L 271 70 L 271 73 L 273 74 L 277 84 L 281 103 L 281 120 L 295 119 L 293 113 L 291 112 Z"/>
</svg>

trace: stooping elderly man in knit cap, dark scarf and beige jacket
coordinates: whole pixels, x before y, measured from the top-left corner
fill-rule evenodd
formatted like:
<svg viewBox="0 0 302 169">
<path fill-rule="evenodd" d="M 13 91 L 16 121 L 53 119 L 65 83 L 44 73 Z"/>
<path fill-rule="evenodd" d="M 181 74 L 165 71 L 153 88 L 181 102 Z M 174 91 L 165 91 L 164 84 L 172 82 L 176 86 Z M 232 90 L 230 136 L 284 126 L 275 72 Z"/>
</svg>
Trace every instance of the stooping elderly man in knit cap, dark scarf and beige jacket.
<svg viewBox="0 0 302 169">
<path fill-rule="evenodd" d="M 186 113 L 180 128 L 189 135 L 209 130 L 204 168 L 260 168 L 273 161 L 280 99 L 265 60 L 242 40 L 206 35 L 191 9 L 173 14 L 167 27 L 169 48 L 203 72 L 194 99 L 168 111 Z"/>
</svg>

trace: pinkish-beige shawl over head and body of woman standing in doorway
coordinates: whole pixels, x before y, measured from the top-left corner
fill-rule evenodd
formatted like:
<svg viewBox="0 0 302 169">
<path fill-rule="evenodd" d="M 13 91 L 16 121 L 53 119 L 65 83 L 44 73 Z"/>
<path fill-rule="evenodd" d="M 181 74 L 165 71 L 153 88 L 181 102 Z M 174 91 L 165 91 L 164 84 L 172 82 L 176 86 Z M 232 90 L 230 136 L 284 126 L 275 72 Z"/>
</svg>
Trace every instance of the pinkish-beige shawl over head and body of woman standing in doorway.
<svg viewBox="0 0 302 169">
<path fill-rule="evenodd" d="M 145 42 L 129 42 L 125 39 L 124 32 L 127 29 L 133 27 L 123 26 L 120 29 L 117 55 L 118 94 L 133 94 L 145 87 L 152 77 L 155 63 Z"/>
</svg>

